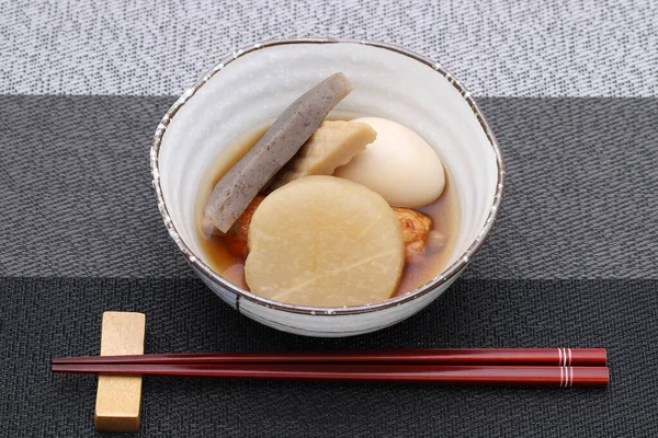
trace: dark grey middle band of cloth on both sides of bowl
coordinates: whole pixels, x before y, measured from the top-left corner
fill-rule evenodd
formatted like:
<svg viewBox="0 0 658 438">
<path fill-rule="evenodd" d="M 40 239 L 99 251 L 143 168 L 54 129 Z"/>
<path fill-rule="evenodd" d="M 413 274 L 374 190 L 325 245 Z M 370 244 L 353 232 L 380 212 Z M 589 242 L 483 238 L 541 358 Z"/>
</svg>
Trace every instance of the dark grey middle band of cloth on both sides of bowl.
<svg viewBox="0 0 658 438">
<path fill-rule="evenodd" d="M 0 96 L 0 275 L 192 277 L 150 187 L 173 97 Z M 500 220 L 465 278 L 658 278 L 658 100 L 480 99 Z"/>
</svg>

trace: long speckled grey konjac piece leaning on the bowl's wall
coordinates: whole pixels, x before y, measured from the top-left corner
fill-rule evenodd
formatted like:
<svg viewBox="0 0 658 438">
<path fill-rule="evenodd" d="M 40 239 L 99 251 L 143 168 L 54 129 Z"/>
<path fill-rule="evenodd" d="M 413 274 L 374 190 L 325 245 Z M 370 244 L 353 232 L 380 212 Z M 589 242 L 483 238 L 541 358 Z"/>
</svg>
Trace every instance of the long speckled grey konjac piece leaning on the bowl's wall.
<svg viewBox="0 0 658 438">
<path fill-rule="evenodd" d="M 351 91 L 348 79 L 336 73 L 293 102 L 253 148 L 217 182 L 205 207 L 204 234 L 211 235 L 214 228 L 227 232 L 268 181 Z"/>
</svg>

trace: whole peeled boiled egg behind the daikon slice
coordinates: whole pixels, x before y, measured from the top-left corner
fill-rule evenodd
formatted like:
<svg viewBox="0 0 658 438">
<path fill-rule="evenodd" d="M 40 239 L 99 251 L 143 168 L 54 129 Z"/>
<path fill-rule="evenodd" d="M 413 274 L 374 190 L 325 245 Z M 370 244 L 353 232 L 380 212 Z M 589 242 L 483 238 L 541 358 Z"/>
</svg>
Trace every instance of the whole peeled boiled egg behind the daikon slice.
<svg viewBox="0 0 658 438">
<path fill-rule="evenodd" d="M 361 117 L 377 138 L 334 175 L 378 193 L 396 207 L 421 207 L 433 203 L 445 187 L 441 159 L 418 134 L 396 122 Z"/>
</svg>

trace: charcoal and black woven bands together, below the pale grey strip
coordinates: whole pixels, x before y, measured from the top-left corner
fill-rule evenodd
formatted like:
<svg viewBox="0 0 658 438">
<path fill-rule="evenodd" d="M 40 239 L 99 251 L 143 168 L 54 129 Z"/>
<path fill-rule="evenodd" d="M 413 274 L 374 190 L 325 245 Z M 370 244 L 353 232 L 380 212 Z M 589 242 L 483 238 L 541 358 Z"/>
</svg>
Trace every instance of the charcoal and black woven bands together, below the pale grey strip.
<svg viewBox="0 0 658 438">
<path fill-rule="evenodd" d="M 280 333 L 196 279 L 168 238 L 148 149 L 174 97 L 0 96 L 0 436 L 89 436 L 103 311 L 147 353 L 605 347 L 608 389 L 146 378 L 136 436 L 655 436 L 658 101 L 480 99 L 508 189 L 485 247 L 429 308 L 342 339 Z M 105 434 L 103 434 L 105 435 Z"/>
</svg>

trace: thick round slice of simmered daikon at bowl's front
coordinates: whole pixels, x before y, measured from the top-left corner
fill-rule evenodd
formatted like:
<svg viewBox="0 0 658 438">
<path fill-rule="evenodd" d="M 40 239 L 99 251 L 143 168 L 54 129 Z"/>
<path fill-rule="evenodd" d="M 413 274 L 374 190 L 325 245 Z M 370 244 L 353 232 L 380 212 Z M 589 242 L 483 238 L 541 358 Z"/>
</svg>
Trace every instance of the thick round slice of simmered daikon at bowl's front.
<svg viewBox="0 0 658 438">
<path fill-rule="evenodd" d="M 249 227 L 247 284 L 300 306 L 383 301 L 405 263 L 402 232 L 384 198 L 333 176 L 306 176 L 274 191 Z"/>
</svg>

